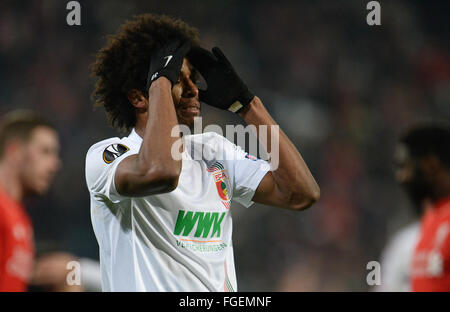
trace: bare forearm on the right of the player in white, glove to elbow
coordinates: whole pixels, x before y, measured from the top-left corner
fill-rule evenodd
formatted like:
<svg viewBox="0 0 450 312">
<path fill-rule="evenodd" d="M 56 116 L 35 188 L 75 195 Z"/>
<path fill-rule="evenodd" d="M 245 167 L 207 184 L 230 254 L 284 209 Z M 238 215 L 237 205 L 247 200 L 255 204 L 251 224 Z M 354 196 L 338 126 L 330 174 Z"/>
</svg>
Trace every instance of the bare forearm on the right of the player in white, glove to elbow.
<svg viewBox="0 0 450 312">
<path fill-rule="evenodd" d="M 248 124 L 256 127 L 258 138 L 261 137 L 259 126 L 268 126 L 267 142 L 262 143 L 266 143 L 264 147 L 269 154 L 275 152 L 271 150 L 273 146 L 278 148 L 278 168 L 272 172 L 272 175 L 278 189 L 286 199 L 294 205 L 298 205 L 299 208 L 309 207 L 316 202 L 320 196 L 319 186 L 287 135 L 279 127 L 270 127 L 276 126 L 277 123 L 267 112 L 261 100 L 255 96 L 248 107 L 241 112 L 241 116 Z M 279 129 L 278 144 L 271 141 L 277 137 L 271 132 L 277 131 L 277 129 Z"/>
</svg>

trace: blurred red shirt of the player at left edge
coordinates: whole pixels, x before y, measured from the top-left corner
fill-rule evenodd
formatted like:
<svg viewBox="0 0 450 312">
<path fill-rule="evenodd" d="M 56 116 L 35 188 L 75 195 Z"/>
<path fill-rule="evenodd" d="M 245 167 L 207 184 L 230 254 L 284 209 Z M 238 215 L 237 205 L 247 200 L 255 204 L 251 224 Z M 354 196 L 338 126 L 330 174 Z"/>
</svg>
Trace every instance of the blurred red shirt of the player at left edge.
<svg viewBox="0 0 450 312">
<path fill-rule="evenodd" d="M 0 292 L 27 290 L 33 258 L 30 218 L 21 203 L 0 189 Z"/>
</svg>

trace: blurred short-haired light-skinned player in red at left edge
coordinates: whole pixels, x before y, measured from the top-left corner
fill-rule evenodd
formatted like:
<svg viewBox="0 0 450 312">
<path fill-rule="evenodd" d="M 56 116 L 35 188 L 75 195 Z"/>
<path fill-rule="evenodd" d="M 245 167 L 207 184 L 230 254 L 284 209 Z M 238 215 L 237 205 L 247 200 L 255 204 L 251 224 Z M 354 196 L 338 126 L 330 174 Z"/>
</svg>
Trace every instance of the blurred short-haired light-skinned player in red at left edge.
<svg viewBox="0 0 450 312">
<path fill-rule="evenodd" d="M 60 167 L 56 130 L 31 111 L 0 125 L 0 291 L 26 291 L 34 259 L 33 228 L 22 201 L 45 193 Z"/>
</svg>

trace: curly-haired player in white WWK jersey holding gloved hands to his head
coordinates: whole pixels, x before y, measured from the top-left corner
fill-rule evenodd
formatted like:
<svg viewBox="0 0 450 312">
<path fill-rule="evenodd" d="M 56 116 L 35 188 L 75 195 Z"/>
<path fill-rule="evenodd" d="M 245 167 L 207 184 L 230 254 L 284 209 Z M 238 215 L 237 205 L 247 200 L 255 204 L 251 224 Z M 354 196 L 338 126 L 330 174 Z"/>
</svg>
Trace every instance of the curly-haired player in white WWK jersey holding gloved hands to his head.
<svg viewBox="0 0 450 312">
<path fill-rule="evenodd" d="M 197 88 L 198 72 L 206 90 Z M 212 132 L 184 135 L 179 150 L 172 130 L 192 127 L 200 101 L 256 127 L 276 125 L 223 53 L 201 48 L 180 20 L 144 14 L 126 22 L 93 73 L 97 104 L 130 131 L 86 156 L 103 290 L 236 291 L 230 203 L 310 207 L 319 187 L 300 153 L 282 131 L 273 171 Z"/>
</svg>

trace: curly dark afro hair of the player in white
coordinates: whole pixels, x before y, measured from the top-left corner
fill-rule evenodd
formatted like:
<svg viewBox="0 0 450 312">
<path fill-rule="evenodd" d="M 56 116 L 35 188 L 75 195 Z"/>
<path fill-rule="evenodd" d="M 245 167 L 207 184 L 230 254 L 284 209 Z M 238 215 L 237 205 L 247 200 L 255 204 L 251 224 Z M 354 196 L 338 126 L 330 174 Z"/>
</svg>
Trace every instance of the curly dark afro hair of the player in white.
<svg viewBox="0 0 450 312">
<path fill-rule="evenodd" d="M 92 98 L 103 106 L 111 126 L 130 131 L 136 124 L 134 106 L 128 92 L 146 94 L 150 56 L 154 49 L 172 40 L 198 44 L 197 29 L 166 15 L 142 14 L 125 22 L 97 54 L 92 75 L 97 77 Z"/>
</svg>

